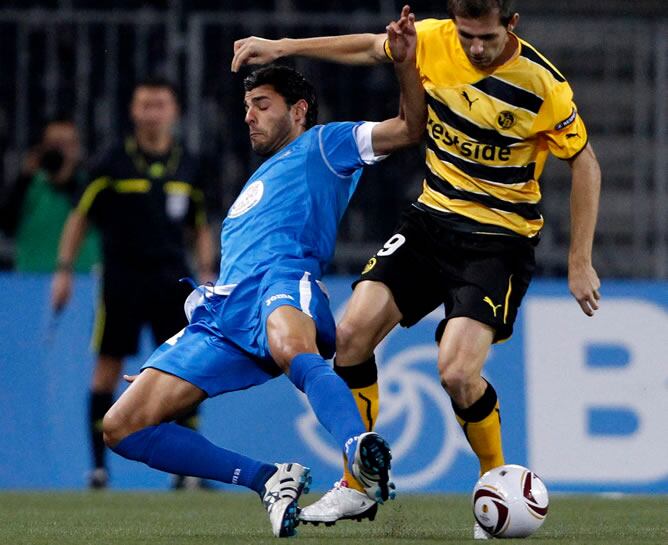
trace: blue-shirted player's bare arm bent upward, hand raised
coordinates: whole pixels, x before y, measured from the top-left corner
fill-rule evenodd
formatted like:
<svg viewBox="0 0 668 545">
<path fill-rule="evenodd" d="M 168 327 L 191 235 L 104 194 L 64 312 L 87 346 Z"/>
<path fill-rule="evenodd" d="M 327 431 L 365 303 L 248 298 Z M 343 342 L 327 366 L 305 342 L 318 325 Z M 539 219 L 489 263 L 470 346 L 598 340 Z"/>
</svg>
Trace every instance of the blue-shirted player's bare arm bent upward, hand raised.
<svg viewBox="0 0 668 545">
<path fill-rule="evenodd" d="M 401 107 L 397 117 L 374 126 L 372 145 L 376 155 L 418 143 L 427 122 L 424 88 L 415 65 L 415 16 L 409 6 L 404 6 L 398 21 L 387 26 L 387 40 L 399 80 Z"/>
</svg>

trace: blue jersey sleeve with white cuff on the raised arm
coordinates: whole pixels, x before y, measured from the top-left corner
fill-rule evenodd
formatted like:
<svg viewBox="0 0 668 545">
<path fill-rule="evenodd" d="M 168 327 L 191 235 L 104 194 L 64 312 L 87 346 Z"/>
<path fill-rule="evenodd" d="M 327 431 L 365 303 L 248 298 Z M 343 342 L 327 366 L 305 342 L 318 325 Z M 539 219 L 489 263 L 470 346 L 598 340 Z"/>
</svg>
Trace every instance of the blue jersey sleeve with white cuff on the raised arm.
<svg viewBox="0 0 668 545">
<path fill-rule="evenodd" d="M 373 152 L 372 132 L 377 123 L 328 123 L 318 135 L 320 154 L 327 168 L 341 177 L 351 176 L 364 165 L 372 165 L 386 156 Z"/>
</svg>

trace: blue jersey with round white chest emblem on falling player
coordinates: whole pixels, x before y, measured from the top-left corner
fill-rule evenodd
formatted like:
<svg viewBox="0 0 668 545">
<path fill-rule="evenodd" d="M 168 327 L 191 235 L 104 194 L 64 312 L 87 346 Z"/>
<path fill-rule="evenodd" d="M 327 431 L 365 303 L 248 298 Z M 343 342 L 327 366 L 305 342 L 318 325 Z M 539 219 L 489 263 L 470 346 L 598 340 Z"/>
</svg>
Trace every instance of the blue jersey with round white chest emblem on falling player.
<svg viewBox="0 0 668 545">
<path fill-rule="evenodd" d="M 371 124 L 317 125 L 255 171 L 223 222 L 218 285 L 285 262 L 322 276 L 362 167 L 377 159 L 362 157 L 357 132 L 364 125 Z M 364 132 L 370 141 L 370 129 Z"/>
</svg>

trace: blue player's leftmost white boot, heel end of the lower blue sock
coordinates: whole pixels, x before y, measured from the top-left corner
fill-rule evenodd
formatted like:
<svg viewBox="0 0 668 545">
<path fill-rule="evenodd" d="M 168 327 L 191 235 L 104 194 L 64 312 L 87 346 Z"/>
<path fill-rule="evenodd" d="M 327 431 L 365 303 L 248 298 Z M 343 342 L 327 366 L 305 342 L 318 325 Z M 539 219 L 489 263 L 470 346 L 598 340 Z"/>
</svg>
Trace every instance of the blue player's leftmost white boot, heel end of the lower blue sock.
<svg viewBox="0 0 668 545">
<path fill-rule="evenodd" d="M 264 484 L 262 503 L 269 513 L 271 529 L 276 537 L 295 535 L 299 524 L 297 501 L 308 492 L 310 469 L 300 464 L 274 464 L 278 470 Z"/>
</svg>

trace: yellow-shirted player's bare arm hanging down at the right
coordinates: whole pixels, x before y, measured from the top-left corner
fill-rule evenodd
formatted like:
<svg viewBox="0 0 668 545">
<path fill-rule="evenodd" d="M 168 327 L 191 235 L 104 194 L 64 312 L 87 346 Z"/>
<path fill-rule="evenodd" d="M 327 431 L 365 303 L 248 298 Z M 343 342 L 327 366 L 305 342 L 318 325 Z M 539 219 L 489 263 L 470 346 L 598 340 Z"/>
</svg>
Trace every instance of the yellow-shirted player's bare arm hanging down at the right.
<svg viewBox="0 0 668 545">
<path fill-rule="evenodd" d="M 601 169 L 590 144 L 568 163 L 572 177 L 568 287 L 582 311 L 587 316 L 593 316 L 601 298 L 601 282 L 592 265 Z"/>
</svg>

